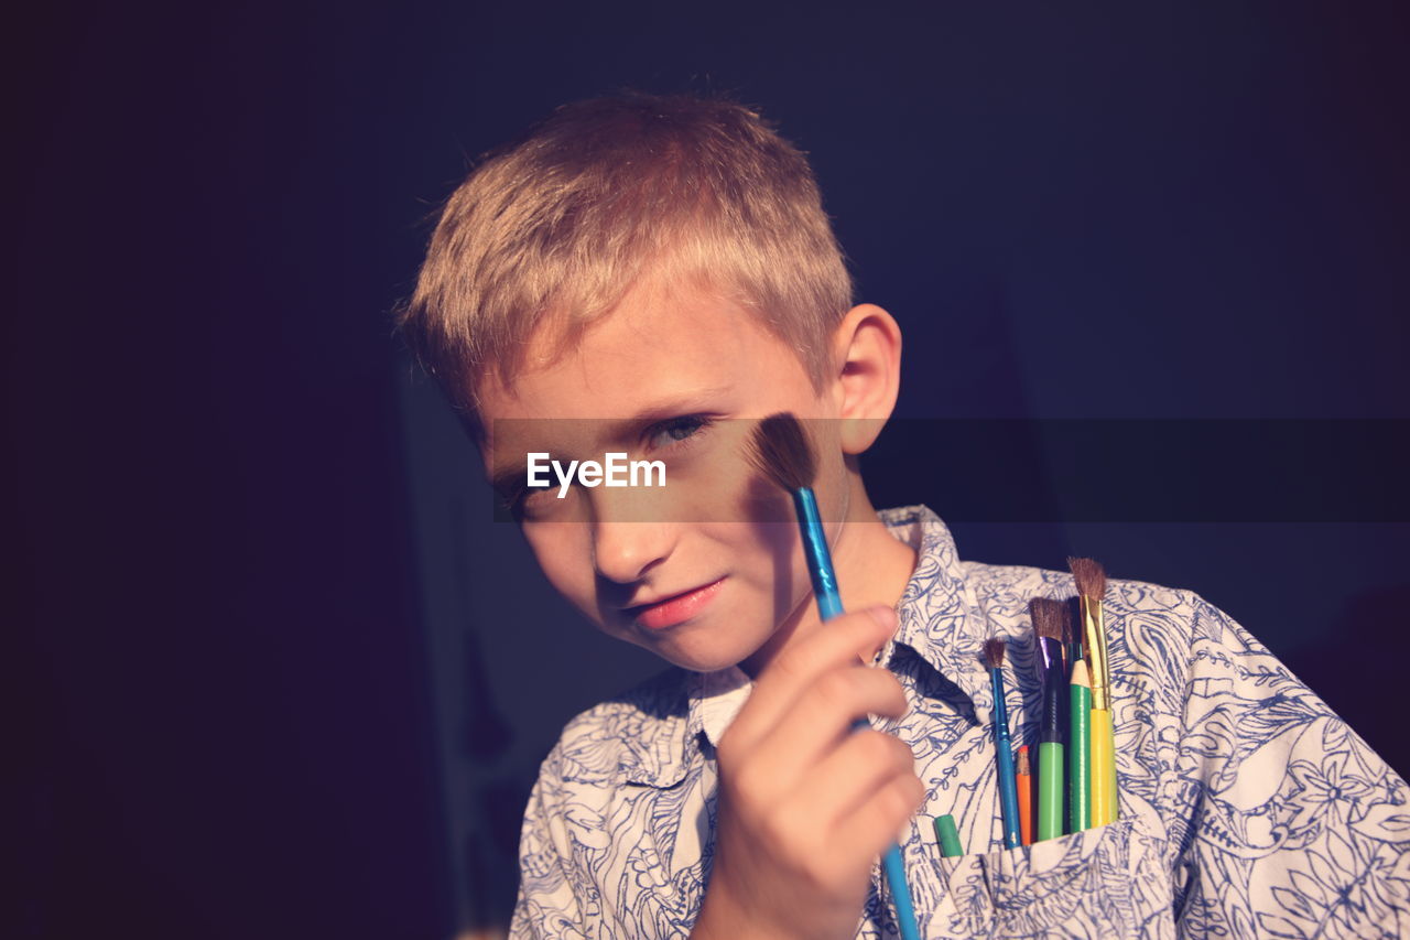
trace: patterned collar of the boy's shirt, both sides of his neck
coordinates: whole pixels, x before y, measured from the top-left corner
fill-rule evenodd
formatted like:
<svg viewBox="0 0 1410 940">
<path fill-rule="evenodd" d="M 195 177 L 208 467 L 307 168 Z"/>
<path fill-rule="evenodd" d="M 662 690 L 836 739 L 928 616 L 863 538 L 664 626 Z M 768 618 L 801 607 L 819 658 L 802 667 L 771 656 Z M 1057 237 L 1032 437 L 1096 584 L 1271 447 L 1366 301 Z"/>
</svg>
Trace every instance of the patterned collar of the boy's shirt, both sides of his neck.
<svg viewBox="0 0 1410 940">
<path fill-rule="evenodd" d="M 897 605 L 900 627 L 881 649 L 891 663 L 904 646 L 955 683 L 974 703 L 977 714 L 993 707 L 988 672 L 981 656 L 990 635 L 983 608 L 955 549 L 949 526 L 924 505 L 877 514 L 893 536 L 916 553 L 915 570 Z M 695 673 L 689 687 L 689 734 L 704 734 L 712 747 L 749 699 L 753 682 L 737 666 Z"/>
</svg>

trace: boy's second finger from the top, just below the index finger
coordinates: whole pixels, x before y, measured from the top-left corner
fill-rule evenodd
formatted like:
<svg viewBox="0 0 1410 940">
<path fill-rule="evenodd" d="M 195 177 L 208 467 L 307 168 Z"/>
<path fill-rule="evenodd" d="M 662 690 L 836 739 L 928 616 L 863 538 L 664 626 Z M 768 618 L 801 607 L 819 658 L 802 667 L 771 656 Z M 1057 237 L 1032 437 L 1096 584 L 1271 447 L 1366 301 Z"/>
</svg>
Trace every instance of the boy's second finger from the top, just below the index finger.
<svg viewBox="0 0 1410 940">
<path fill-rule="evenodd" d="M 798 696 L 794 707 L 760 735 L 749 755 L 750 766 L 737 768 L 736 781 L 742 788 L 757 785 L 766 790 L 757 793 L 761 799 L 767 799 L 767 792 L 788 792 L 853 734 L 857 718 L 900 717 L 905 709 L 905 692 L 890 672 L 838 666 Z"/>
</svg>

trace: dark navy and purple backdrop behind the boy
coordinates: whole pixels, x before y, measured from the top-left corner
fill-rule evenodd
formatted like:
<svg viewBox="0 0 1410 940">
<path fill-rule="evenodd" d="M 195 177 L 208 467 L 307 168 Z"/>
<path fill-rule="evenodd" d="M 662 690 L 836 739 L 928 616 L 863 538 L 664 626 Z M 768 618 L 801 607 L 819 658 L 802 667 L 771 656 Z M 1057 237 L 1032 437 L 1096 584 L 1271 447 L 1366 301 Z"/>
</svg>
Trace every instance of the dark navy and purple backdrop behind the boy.
<svg viewBox="0 0 1410 940">
<path fill-rule="evenodd" d="M 467 161 L 565 100 L 726 90 L 777 120 L 860 296 L 901 320 L 905 418 L 1410 416 L 1396 4 L 24 16 L 6 936 L 448 937 L 505 915 L 537 761 L 654 666 L 488 522 L 388 312 Z M 873 497 L 966 515 L 924 473 Z M 955 531 L 977 560 L 1090 553 L 1200 591 L 1404 771 L 1379 711 L 1410 526 L 1306 518 Z"/>
</svg>

